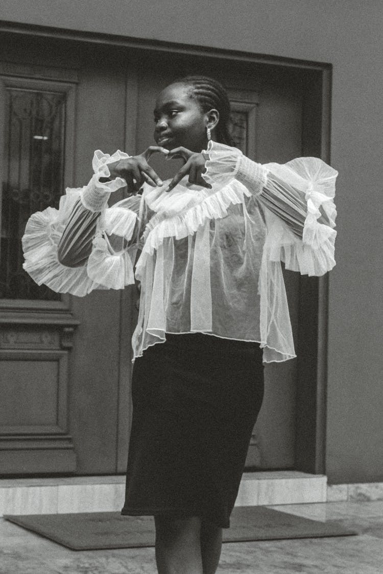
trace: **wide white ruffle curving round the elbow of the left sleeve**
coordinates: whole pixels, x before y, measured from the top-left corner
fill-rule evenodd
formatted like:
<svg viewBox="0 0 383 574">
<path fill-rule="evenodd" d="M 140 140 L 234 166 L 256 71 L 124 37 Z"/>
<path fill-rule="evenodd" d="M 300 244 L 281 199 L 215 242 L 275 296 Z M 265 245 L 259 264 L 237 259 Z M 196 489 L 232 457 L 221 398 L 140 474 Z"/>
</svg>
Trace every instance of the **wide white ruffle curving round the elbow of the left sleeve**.
<svg viewBox="0 0 383 574">
<path fill-rule="evenodd" d="M 57 250 L 68 216 L 82 189 L 68 189 L 61 197 L 60 209 L 48 207 L 30 216 L 22 238 L 24 269 L 37 283 L 47 285 L 56 293 L 84 297 L 94 289 L 123 289 L 134 284 L 131 257 L 136 248 L 115 253 L 102 236 L 108 234 L 130 239 L 137 216 L 123 208 L 110 208 L 99 219 L 92 253 L 86 265 L 67 267 L 57 258 Z"/>
</svg>

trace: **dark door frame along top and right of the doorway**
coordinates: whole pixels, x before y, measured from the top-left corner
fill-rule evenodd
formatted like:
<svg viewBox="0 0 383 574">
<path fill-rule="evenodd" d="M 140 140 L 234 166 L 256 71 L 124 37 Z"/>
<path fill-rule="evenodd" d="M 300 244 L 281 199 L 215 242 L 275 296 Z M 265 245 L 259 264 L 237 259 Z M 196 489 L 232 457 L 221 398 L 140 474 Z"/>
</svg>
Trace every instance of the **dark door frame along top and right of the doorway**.
<svg viewBox="0 0 383 574">
<path fill-rule="evenodd" d="M 143 52 L 176 53 L 177 55 L 202 56 L 208 59 L 231 62 L 241 61 L 249 64 L 267 64 L 303 69 L 307 73 L 308 90 L 305 94 L 303 110 L 302 155 L 316 156 L 327 163 L 330 162 L 332 65 L 329 63 L 295 60 L 286 57 L 209 48 L 207 46 L 176 44 L 175 42 L 77 32 L 29 24 L 10 24 L 9 22 L 0 22 L 0 32 L 121 46 L 121 48 L 129 49 L 129 51 L 137 51 L 137 54 L 142 54 Z M 128 88 L 130 94 L 134 96 L 137 87 L 131 84 Z M 127 90 L 127 93 L 129 90 Z M 126 118 L 128 117 L 128 114 L 126 114 Z M 126 122 L 129 121 L 134 123 L 134 119 L 126 119 Z M 133 129 L 134 126 L 131 125 L 130 127 L 132 129 L 126 130 L 126 133 L 136 133 L 136 130 Z M 135 149 L 134 141 L 126 142 L 126 145 L 129 149 Z M 133 297 L 133 294 L 130 293 L 128 297 Z M 124 329 L 128 328 L 128 325 L 125 325 Z M 324 474 L 326 472 L 327 330 L 328 274 L 319 278 L 300 276 L 295 470 L 313 474 Z M 123 387 L 122 381 L 127 371 L 130 371 L 130 366 L 126 361 L 125 363 L 122 362 L 121 388 Z M 121 399 L 125 402 L 127 400 L 126 393 L 123 391 Z M 125 407 L 121 404 L 121 408 Z M 126 428 L 119 430 L 121 430 L 121 436 L 125 435 Z M 124 442 L 122 440 L 119 450 L 125 449 Z"/>
</svg>

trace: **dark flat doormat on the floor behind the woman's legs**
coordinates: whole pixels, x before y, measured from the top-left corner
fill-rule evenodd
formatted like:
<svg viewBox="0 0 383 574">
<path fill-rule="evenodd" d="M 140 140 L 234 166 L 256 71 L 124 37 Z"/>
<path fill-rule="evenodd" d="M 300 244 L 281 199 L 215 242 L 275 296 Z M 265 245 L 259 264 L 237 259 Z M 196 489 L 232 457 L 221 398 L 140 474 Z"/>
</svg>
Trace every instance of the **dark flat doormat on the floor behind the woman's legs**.
<svg viewBox="0 0 383 574">
<path fill-rule="evenodd" d="M 4 517 L 71 550 L 101 550 L 154 546 L 151 516 L 122 516 L 119 512 L 29 514 Z M 353 536 L 336 522 L 318 522 L 265 506 L 236 506 L 223 542 Z"/>
</svg>

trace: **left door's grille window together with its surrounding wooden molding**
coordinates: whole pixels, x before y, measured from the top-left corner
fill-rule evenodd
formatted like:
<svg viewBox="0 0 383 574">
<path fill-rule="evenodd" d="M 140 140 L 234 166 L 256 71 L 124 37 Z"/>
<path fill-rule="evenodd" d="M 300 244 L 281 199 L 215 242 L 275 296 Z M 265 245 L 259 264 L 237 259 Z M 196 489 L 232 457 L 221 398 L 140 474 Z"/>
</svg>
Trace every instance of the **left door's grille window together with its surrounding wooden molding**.
<svg viewBox="0 0 383 574">
<path fill-rule="evenodd" d="M 58 207 L 64 181 L 73 181 L 75 84 L 0 76 L 0 98 L 0 308 L 69 310 L 69 297 L 36 288 L 22 270 L 20 240 L 29 215 Z M 33 284 L 31 296 L 24 283 Z"/>
</svg>

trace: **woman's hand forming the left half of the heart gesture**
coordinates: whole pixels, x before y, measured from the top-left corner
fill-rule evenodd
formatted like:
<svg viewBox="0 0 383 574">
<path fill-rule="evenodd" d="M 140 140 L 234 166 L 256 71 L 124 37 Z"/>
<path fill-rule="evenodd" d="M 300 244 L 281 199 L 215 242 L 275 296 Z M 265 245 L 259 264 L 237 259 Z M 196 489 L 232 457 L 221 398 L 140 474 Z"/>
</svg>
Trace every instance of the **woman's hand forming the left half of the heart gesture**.
<svg viewBox="0 0 383 574">
<path fill-rule="evenodd" d="M 161 148 L 161 146 L 151 145 L 145 152 L 138 156 L 131 156 L 115 164 L 108 165 L 110 177 L 112 179 L 115 177 L 125 179 L 127 192 L 130 195 L 137 193 L 145 182 L 152 185 L 152 187 L 163 185 L 163 181 L 161 181 L 154 169 L 148 164 L 148 160 L 153 153 L 168 154 L 169 150 Z"/>
</svg>

